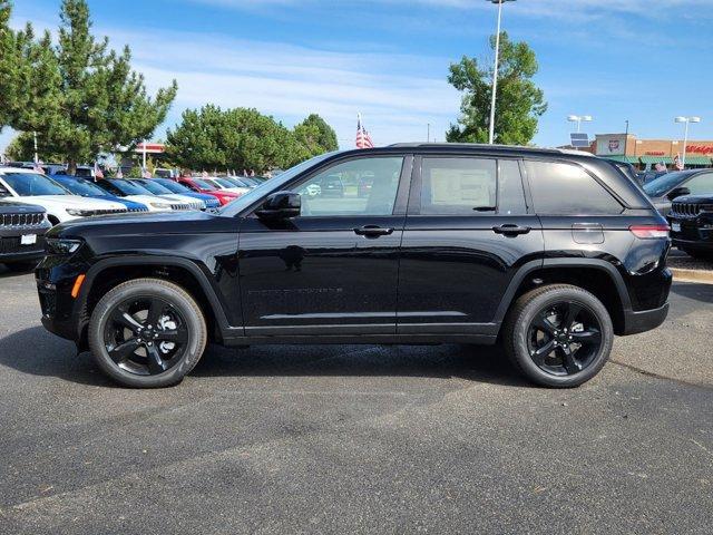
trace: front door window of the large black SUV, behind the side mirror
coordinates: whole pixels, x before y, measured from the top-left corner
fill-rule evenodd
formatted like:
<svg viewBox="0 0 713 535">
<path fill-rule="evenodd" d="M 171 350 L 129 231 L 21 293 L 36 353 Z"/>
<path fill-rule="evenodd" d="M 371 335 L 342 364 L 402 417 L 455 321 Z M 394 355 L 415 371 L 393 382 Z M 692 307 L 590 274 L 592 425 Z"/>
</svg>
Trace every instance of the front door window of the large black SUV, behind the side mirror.
<svg viewBox="0 0 713 535">
<path fill-rule="evenodd" d="M 391 215 L 403 157 L 360 158 L 336 164 L 311 176 L 292 191 L 302 196 L 302 215 Z M 373 178 L 369 191 L 359 188 Z"/>
</svg>

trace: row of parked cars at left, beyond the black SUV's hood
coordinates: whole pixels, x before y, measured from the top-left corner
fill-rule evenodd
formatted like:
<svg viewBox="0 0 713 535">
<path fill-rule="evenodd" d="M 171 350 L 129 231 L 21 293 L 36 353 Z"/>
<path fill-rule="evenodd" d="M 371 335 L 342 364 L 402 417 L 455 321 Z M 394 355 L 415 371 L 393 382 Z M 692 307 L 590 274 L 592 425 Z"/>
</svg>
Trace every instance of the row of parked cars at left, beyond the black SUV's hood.
<svg viewBox="0 0 713 535">
<path fill-rule="evenodd" d="M 101 178 L 0 167 L 0 263 L 27 271 L 52 225 L 95 215 L 217 210 L 262 182 L 255 177 Z"/>
</svg>

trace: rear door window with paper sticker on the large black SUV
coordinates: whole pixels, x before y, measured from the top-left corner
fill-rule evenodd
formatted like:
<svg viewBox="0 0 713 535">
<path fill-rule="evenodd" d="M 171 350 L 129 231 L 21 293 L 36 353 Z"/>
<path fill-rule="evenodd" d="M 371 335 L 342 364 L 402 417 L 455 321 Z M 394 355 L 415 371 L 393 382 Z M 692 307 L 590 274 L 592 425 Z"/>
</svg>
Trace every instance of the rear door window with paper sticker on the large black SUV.
<svg viewBox="0 0 713 535">
<path fill-rule="evenodd" d="M 495 210 L 495 159 L 423 158 L 421 214 L 473 215 L 476 208 Z"/>
</svg>

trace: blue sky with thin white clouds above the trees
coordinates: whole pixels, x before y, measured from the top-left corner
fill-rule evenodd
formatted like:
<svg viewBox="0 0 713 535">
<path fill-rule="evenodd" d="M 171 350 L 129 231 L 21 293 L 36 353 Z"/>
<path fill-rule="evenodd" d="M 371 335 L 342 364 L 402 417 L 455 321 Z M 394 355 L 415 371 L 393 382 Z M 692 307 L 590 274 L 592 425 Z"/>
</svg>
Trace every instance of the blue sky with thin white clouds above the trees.
<svg viewBox="0 0 713 535">
<path fill-rule="evenodd" d="M 12 23 L 56 28 L 59 0 L 16 0 Z M 446 81 L 462 55 L 491 60 L 496 7 L 485 0 L 89 0 L 95 32 L 128 43 L 149 89 L 178 80 L 180 111 L 256 107 L 292 126 L 310 113 L 353 146 L 361 113 L 377 145 L 443 140 L 460 96 Z M 713 0 L 518 0 L 504 29 L 537 52 L 549 104 L 535 143 L 567 142 L 568 114 L 589 134 L 677 138 L 699 115 L 713 139 Z M 0 149 L 10 133 L 0 134 Z"/>
</svg>

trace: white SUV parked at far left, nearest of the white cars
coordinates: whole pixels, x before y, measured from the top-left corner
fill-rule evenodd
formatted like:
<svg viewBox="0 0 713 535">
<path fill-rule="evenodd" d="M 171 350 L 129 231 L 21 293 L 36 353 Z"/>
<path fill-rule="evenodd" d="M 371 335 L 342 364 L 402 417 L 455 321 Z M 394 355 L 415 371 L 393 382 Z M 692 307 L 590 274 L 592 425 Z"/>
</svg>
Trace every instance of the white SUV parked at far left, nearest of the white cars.
<svg viewBox="0 0 713 535">
<path fill-rule="evenodd" d="M 0 197 L 42 206 L 53 225 L 78 217 L 127 212 L 120 203 L 72 195 L 47 175 L 17 167 L 0 167 Z"/>
</svg>

